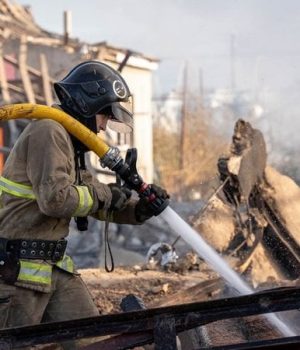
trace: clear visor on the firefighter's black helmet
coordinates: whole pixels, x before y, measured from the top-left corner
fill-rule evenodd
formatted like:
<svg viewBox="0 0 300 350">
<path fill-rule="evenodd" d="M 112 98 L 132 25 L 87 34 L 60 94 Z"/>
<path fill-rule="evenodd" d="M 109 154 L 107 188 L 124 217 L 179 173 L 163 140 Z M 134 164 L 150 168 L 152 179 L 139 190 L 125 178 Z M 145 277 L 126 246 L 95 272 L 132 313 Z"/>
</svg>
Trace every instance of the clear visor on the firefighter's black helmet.
<svg viewBox="0 0 300 350">
<path fill-rule="evenodd" d="M 133 110 L 131 98 L 126 102 L 111 104 L 112 118 L 107 126 L 119 133 L 130 133 L 133 129 Z"/>
</svg>

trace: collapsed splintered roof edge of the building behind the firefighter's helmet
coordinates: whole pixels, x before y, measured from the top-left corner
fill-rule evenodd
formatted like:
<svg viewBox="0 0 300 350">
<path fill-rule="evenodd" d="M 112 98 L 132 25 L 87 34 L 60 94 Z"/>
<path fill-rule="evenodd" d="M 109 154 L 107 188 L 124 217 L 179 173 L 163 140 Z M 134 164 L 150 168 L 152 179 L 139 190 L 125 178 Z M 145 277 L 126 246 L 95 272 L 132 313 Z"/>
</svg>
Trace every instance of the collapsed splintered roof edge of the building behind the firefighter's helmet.
<svg viewBox="0 0 300 350">
<path fill-rule="evenodd" d="M 79 53 L 81 59 L 99 59 L 120 64 L 129 53 L 126 62 L 128 65 L 149 70 L 157 68 L 157 58 L 116 47 L 106 41 L 90 44 L 71 38 L 66 32 L 57 34 L 44 30 L 36 23 L 30 7 L 0 0 L 0 40 L 24 40 L 24 37 L 27 43 L 63 47 L 69 54 Z"/>
</svg>

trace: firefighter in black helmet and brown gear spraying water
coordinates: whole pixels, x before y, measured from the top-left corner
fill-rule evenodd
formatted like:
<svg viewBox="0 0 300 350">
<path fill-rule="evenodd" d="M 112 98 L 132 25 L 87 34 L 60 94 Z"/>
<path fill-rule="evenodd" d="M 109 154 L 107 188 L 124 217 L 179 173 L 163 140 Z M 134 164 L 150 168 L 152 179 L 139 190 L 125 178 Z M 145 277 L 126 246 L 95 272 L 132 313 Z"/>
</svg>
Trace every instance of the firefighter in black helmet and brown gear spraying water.
<svg viewBox="0 0 300 350">
<path fill-rule="evenodd" d="M 64 112 L 91 131 L 132 129 L 131 94 L 121 75 L 97 61 L 79 64 L 54 89 Z M 0 178 L 0 328 L 98 315 L 65 254 L 69 222 L 112 213 L 120 224 L 153 216 L 144 200 L 99 182 L 85 167 L 88 149 L 62 125 L 34 120 L 14 145 Z M 167 198 L 165 190 L 152 185 Z M 62 344 L 74 349 L 74 344 Z"/>
</svg>

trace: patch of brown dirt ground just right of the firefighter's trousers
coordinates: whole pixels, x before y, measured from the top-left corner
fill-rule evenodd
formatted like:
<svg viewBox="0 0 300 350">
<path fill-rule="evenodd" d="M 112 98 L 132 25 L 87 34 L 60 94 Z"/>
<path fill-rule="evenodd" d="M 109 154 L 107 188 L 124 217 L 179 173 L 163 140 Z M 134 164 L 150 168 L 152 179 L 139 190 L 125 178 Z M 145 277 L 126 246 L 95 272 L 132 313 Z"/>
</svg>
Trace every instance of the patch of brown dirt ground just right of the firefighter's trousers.
<svg viewBox="0 0 300 350">
<path fill-rule="evenodd" d="M 141 298 L 146 307 L 157 304 L 179 290 L 212 279 L 209 271 L 186 274 L 154 270 L 141 270 L 139 266 L 117 267 L 112 273 L 104 269 L 79 271 L 87 284 L 101 314 L 121 312 L 120 302 L 128 294 Z"/>
</svg>

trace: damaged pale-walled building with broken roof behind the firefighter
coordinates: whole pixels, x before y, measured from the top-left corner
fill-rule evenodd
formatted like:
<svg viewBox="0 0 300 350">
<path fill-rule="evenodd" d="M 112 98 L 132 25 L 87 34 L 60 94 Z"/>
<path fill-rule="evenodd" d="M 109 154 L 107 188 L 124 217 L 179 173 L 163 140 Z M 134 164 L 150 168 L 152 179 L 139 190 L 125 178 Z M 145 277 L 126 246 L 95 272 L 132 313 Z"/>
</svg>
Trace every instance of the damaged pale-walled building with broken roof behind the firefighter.
<svg viewBox="0 0 300 350">
<path fill-rule="evenodd" d="M 64 24 L 64 25 L 63 25 Z M 134 132 L 132 135 L 109 135 L 109 142 L 121 150 L 139 149 L 139 167 L 148 181 L 153 181 L 152 154 L 152 73 L 158 59 L 105 41 L 89 44 L 72 38 L 71 13 L 62 14 L 63 34 L 42 29 L 30 8 L 9 0 L 0 1 L 0 87 L 1 103 L 40 103 L 52 105 L 54 81 L 62 79 L 84 60 L 100 60 L 122 71 L 134 99 Z M 0 143 L 8 151 L 24 127 L 24 121 L 2 125 Z M 98 159 L 91 159 L 98 170 Z M 1 160 L 3 166 L 3 158 Z M 100 178 L 105 175 L 100 175 Z"/>
</svg>

